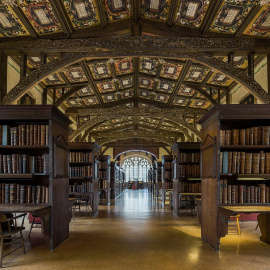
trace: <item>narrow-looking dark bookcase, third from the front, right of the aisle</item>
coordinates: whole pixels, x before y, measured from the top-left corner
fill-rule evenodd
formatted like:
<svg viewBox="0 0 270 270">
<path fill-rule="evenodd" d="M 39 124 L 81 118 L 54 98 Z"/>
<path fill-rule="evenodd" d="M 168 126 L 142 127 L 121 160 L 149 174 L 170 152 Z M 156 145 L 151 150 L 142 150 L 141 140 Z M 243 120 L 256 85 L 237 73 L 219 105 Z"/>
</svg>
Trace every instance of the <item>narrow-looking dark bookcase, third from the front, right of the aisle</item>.
<svg viewBox="0 0 270 270">
<path fill-rule="evenodd" d="M 173 169 L 172 169 L 173 156 L 162 156 L 162 205 L 165 205 L 167 191 L 173 190 Z"/>
</svg>

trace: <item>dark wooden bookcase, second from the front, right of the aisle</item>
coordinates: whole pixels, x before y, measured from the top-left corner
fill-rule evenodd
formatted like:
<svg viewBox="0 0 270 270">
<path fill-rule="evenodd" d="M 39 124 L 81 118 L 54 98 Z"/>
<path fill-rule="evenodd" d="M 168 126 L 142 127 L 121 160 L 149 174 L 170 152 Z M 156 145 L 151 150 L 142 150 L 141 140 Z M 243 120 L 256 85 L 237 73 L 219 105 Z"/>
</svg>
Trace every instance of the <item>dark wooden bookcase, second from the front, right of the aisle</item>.
<svg viewBox="0 0 270 270">
<path fill-rule="evenodd" d="M 179 197 L 200 197 L 200 143 L 179 142 L 173 150 L 173 213 L 179 214 Z"/>
</svg>

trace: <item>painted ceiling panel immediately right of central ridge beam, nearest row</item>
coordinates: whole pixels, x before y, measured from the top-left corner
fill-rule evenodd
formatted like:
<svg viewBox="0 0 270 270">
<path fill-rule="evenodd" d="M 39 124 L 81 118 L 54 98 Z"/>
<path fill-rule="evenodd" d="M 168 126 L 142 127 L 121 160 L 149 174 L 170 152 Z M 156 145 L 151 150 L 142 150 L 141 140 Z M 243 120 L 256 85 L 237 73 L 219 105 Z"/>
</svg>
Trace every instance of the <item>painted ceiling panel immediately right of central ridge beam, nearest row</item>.
<svg viewBox="0 0 270 270">
<path fill-rule="evenodd" d="M 166 21 L 169 7 L 170 0 L 142 0 L 141 15 L 144 18 Z"/>
</svg>

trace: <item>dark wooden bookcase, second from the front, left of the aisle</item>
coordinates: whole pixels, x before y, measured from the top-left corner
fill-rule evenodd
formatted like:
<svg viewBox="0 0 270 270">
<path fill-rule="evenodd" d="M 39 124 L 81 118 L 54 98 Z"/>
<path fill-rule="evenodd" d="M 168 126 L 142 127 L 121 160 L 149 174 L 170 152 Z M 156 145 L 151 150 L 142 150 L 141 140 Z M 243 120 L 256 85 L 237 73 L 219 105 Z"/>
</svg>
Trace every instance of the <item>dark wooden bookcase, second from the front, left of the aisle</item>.
<svg viewBox="0 0 270 270">
<path fill-rule="evenodd" d="M 69 143 L 70 193 L 89 196 L 93 213 L 98 211 L 98 151 L 99 145 L 90 142 Z"/>
</svg>

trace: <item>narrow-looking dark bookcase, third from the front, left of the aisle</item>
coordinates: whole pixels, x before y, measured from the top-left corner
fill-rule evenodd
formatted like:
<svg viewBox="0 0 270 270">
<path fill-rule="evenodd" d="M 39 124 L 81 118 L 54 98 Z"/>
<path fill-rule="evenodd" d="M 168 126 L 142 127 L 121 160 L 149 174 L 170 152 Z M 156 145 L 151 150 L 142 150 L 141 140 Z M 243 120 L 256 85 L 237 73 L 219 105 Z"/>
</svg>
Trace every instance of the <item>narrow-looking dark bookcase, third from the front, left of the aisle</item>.
<svg viewBox="0 0 270 270">
<path fill-rule="evenodd" d="M 111 157 L 108 155 L 99 156 L 99 192 L 100 192 L 100 204 L 110 204 L 111 199 Z"/>
</svg>

